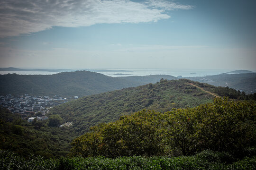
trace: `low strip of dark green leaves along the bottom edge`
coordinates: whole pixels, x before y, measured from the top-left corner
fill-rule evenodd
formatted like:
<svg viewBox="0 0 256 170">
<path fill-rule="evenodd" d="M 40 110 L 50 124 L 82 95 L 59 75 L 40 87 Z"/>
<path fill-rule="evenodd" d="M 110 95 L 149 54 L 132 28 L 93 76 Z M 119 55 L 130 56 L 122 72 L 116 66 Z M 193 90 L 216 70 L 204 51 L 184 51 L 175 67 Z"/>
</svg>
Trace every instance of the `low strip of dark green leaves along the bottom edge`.
<svg viewBox="0 0 256 170">
<path fill-rule="evenodd" d="M 17 154 L 0 151 L 3 170 L 255 170 L 256 157 L 235 160 L 227 153 L 203 151 L 180 157 L 73 157 L 44 159 L 31 156 L 25 160 Z"/>
</svg>

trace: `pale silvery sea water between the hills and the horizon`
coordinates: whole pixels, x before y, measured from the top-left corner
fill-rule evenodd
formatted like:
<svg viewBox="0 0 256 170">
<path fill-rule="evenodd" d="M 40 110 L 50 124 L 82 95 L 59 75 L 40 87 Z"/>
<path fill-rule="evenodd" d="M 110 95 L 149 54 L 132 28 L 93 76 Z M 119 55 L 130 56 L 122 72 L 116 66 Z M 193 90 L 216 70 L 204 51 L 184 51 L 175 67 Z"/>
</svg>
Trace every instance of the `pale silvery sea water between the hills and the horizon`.
<svg viewBox="0 0 256 170">
<path fill-rule="evenodd" d="M 118 70 L 125 70 L 125 71 L 118 71 Z M 104 74 L 106 76 L 148 76 L 148 75 L 170 75 L 170 76 L 183 76 L 183 77 L 192 77 L 192 76 L 211 76 L 211 75 L 218 75 L 221 73 L 227 73 L 229 69 L 112 69 L 117 70 L 115 71 L 96 71 L 98 73 Z M 130 72 L 127 72 L 130 71 Z M 47 72 L 47 71 L 0 71 L 0 74 L 13 74 L 16 73 L 18 75 L 52 75 L 57 74 L 59 72 Z M 192 73 L 192 74 L 191 74 Z M 119 75 L 115 75 L 119 74 Z M 120 75 L 123 74 L 123 75 Z M 130 75 L 127 75 L 130 74 Z"/>
</svg>

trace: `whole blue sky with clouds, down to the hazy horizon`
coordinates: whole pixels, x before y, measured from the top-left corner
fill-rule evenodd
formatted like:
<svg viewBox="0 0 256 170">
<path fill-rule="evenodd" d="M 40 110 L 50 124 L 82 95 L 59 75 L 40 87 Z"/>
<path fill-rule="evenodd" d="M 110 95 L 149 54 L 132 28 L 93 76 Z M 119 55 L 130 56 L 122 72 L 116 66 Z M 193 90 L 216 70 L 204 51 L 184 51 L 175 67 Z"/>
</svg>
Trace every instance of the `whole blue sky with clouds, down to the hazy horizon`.
<svg viewBox="0 0 256 170">
<path fill-rule="evenodd" d="M 256 69 L 256 0 L 1 0 L 6 67 Z"/>
</svg>

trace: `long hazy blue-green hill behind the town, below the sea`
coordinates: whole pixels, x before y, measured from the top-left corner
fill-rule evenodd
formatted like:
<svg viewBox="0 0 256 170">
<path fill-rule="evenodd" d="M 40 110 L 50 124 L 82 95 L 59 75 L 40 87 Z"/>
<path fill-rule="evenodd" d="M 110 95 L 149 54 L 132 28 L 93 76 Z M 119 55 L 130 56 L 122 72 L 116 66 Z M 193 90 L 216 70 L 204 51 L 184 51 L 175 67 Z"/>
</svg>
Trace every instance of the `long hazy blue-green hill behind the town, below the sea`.
<svg viewBox="0 0 256 170">
<path fill-rule="evenodd" d="M 110 77 L 90 71 L 62 72 L 54 75 L 0 75 L 0 94 L 86 96 L 147 83 L 156 83 L 165 75 L 137 76 L 133 79 Z M 174 79 L 174 76 L 167 76 Z"/>
</svg>

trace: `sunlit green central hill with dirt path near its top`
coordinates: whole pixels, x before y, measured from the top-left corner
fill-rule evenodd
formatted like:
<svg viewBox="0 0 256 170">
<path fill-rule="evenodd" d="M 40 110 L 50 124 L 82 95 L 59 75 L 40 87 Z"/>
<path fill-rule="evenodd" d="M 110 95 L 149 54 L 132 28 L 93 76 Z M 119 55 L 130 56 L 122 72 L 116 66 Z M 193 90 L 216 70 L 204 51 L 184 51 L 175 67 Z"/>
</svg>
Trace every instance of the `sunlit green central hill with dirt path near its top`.
<svg viewBox="0 0 256 170">
<path fill-rule="evenodd" d="M 212 94 L 202 91 L 190 82 L 183 79 L 162 80 L 156 84 L 85 96 L 52 108 L 48 116 L 58 114 L 64 122 L 73 122 L 75 135 L 82 135 L 91 126 L 115 121 L 121 115 L 135 111 L 168 111 L 172 108 L 194 107 L 212 102 Z M 212 92 L 215 88 L 196 82 L 193 84 L 201 85 L 203 89 Z"/>
</svg>

